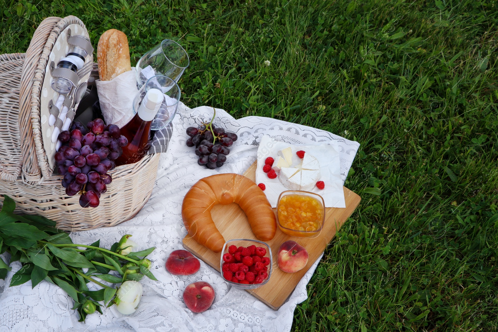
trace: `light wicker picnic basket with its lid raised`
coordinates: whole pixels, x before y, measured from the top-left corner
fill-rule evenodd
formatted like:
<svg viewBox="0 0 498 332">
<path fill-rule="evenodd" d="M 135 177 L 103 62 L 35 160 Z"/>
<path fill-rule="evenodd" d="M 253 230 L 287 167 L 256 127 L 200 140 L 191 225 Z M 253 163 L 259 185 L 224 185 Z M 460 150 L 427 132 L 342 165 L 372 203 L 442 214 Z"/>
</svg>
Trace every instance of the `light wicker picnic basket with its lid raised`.
<svg viewBox="0 0 498 332">
<path fill-rule="evenodd" d="M 65 230 L 113 226 L 132 218 L 154 187 L 159 154 L 118 166 L 97 208 L 81 208 L 78 195 L 68 197 L 62 176 L 53 174 L 43 146 L 40 94 L 49 54 L 76 16 L 48 17 L 36 29 L 26 53 L 0 55 L 0 195 L 16 202 L 16 211 L 57 221 Z M 94 65 L 91 77 L 98 78 Z M 2 200 L 3 201 L 3 200 Z"/>
</svg>

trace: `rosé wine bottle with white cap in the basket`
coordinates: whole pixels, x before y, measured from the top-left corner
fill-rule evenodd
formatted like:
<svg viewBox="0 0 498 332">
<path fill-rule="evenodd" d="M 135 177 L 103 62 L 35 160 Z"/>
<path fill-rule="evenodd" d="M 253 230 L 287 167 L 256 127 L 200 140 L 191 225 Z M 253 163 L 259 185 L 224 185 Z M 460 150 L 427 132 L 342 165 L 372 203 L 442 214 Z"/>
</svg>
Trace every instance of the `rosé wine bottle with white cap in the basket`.
<svg viewBox="0 0 498 332">
<path fill-rule="evenodd" d="M 145 94 L 135 116 L 121 128 L 121 134 L 128 139 L 123 154 L 116 159 L 116 165 L 133 164 L 142 159 L 150 148 L 150 125 L 164 100 L 158 89 Z"/>
</svg>

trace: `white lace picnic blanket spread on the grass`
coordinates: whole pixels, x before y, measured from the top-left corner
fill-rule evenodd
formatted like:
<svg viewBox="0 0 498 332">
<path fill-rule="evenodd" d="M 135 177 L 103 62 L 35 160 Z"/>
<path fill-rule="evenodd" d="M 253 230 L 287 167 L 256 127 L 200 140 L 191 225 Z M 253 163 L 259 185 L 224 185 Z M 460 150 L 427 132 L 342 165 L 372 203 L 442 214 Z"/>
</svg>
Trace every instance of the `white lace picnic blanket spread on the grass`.
<svg viewBox="0 0 498 332">
<path fill-rule="evenodd" d="M 74 243 L 90 244 L 101 239 L 110 247 L 124 234 L 132 234 L 133 241 L 145 249 L 157 248 L 148 258 L 152 272 L 159 281 L 142 279 L 143 296 L 137 311 L 129 316 L 120 314 L 115 306 L 104 309 L 104 315 L 89 315 L 85 323 L 78 322 L 78 314 L 70 310 L 73 300 L 57 286 L 42 281 L 34 289 L 31 282 L 8 287 L 20 263 L 11 264 L 6 280 L 0 280 L 0 331 L 2 332 L 163 332 L 163 331 L 290 331 L 296 304 L 307 298 L 306 284 L 318 261 L 313 264 L 297 285 L 288 301 L 273 311 L 246 291 L 231 288 L 220 274 L 201 262 L 200 270 L 190 276 L 169 274 L 164 264 L 168 254 L 182 248 L 186 234 L 181 219 L 181 204 L 187 190 L 200 178 L 216 173 L 244 173 L 256 159 L 262 134 L 294 144 L 335 140 L 341 148 L 341 174 L 346 179 L 360 144 L 320 129 L 288 123 L 267 117 L 248 116 L 234 119 L 223 110 L 216 110 L 215 124 L 234 131 L 239 140 L 231 148 L 225 165 L 209 170 L 197 164 L 193 148 L 185 145 L 185 129 L 208 120 L 213 109 L 189 109 L 183 104 L 173 121 L 173 135 L 167 153 L 161 155 L 157 181 L 150 200 L 130 221 L 110 228 L 100 228 L 71 234 Z M 112 185 L 112 184 L 111 184 Z M 8 254 L 3 256 L 6 261 Z M 195 281 L 209 282 L 216 292 L 211 308 L 193 314 L 183 301 L 185 287 Z M 90 285 L 90 284 L 89 284 Z M 98 289 L 98 287 L 94 287 Z"/>
</svg>

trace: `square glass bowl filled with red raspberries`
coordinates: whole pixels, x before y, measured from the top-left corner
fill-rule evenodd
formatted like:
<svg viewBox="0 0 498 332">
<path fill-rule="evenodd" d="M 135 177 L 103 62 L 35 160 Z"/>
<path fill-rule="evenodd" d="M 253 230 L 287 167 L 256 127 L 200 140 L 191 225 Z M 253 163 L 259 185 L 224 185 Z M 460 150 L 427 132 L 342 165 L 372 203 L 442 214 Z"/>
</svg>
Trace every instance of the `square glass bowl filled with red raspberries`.
<svg viewBox="0 0 498 332">
<path fill-rule="evenodd" d="M 254 289 L 266 284 L 272 265 L 271 249 L 262 241 L 238 238 L 223 246 L 221 275 L 236 288 Z"/>
</svg>

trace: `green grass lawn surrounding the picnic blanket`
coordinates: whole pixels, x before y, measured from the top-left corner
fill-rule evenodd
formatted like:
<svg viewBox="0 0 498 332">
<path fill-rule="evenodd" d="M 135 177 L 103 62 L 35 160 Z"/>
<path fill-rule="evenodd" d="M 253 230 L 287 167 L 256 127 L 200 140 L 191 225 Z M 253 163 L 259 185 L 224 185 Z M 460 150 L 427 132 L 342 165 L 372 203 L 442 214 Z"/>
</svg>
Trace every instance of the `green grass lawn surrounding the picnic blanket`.
<svg viewBox="0 0 498 332">
<path fill-rule="evenodd" d="M 346 186 L 362 203 L 292 331 L 497 330 L 496 0 L 1 1 L 1 53 L 50 15 L 80 17 L 95 46 L 123 30 L 133 63 L 171 38 L 189 107 L 361 143 Z"/>
</svg>

